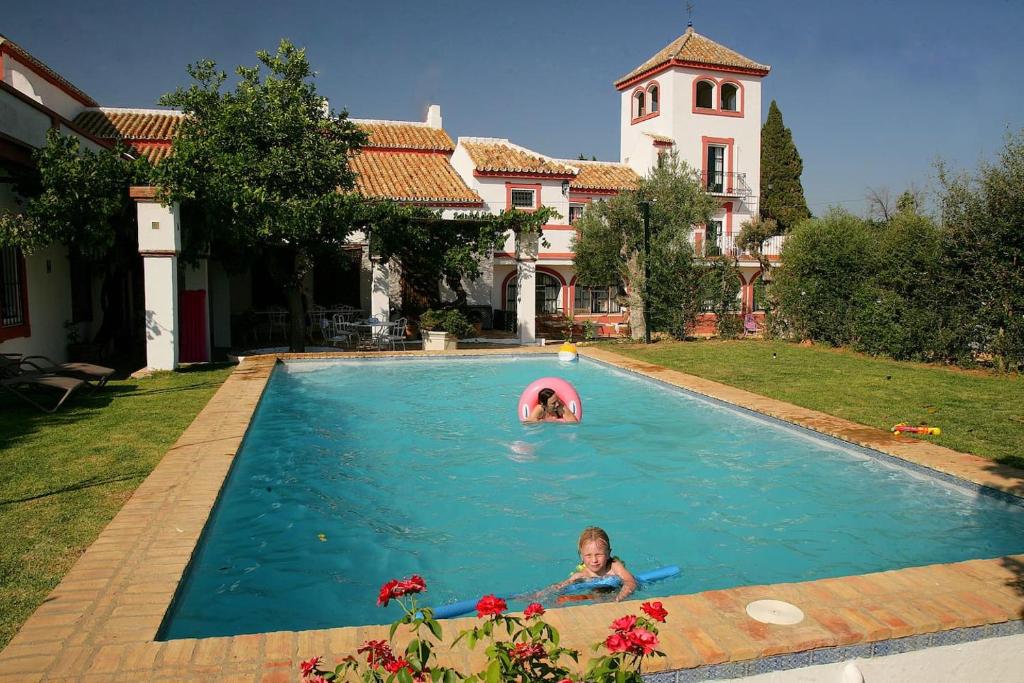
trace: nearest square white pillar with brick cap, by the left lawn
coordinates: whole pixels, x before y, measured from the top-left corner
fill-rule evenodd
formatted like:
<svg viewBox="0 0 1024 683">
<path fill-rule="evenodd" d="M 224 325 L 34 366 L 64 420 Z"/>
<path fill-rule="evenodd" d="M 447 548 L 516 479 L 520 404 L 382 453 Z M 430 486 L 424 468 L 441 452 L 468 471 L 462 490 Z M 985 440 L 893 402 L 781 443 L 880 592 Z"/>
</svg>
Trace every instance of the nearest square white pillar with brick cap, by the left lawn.
<svg viewBox="0 0 1024 683">
<path fill-rule="evenodd" d="M 153 187 L 131 187 L 138 216 L 138 252 L 145 281 L 145 360 L 153 370 L 178 366 L 178 205 L 163 206 Z"/>
</svg>

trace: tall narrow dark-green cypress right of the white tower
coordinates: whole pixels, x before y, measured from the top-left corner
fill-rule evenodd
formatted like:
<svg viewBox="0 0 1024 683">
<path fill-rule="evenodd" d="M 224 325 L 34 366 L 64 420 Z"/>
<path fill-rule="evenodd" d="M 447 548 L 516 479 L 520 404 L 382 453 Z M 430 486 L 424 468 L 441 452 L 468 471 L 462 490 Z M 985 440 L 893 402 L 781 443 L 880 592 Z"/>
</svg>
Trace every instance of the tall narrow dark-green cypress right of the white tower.
<svg viewBox="0 0 1024 683">
<path fill-rule="evenodd" d="M 774 219 L 782 232 L 811 215 L 800 182 L 803 172 L 804 160 L 793 143 L 793 132 L 782 123 L 773 99 L 761 129 L 761 217 Z"/>
</svg>

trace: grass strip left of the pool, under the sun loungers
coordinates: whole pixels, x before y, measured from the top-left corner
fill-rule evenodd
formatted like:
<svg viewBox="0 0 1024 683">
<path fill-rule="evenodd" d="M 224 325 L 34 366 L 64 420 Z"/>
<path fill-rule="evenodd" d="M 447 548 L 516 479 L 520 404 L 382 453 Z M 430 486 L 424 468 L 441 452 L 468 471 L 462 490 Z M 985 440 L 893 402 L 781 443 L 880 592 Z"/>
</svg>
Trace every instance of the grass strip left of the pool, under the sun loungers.
<svg viewBox="0 0 1024 683">
<path fill-rule="evenodd" d="M 111 382 L 95 393 L 73 395 L 56 415 L 0 391 L 0 648 L 230 370 Z"/>
</svg>

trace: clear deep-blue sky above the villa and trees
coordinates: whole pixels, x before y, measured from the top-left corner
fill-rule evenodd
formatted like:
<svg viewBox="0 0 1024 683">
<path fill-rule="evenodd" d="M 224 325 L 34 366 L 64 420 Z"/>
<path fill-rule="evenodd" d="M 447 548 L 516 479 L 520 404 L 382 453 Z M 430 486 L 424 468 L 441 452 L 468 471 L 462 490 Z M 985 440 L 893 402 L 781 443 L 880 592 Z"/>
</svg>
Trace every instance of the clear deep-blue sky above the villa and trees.
<svg viewBox="0 0 1024 683">
<path fill-rule="evenodd" d="M 422 120 L 554 157 L 618 160 L 611 83 L 686 28 L 680 0 L 13 2 L 0 33 L 111 106 L 153 106 L 203 57 L 227 71 L 289 38 L 353 117 Z M 694 29 L 772 67 L 811 210 L 934 187 L 1024 128 L 1024 2 L 693 0 Z M 101 9 L 100 9 L 101 8 Z"/>
</svg>

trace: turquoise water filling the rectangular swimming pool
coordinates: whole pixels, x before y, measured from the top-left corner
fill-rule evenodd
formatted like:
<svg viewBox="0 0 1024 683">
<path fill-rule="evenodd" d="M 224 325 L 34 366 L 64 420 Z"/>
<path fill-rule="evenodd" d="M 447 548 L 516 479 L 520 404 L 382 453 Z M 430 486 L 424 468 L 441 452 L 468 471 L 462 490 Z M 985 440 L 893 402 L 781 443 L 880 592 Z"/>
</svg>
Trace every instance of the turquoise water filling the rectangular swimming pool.
<svg viewBox="0 0 1024 683">
<path fill-rule="evenodd" d="M 522 425 L 558 375 L 582 425 Z M 604 527 L 645 596 L 1024 550 L 1024 508 L 593 361 L 297 361 L 270 378 L 163 637 L 388 623 L 381 584 L 434 604 L 564 579 Z"/>
</svg>

